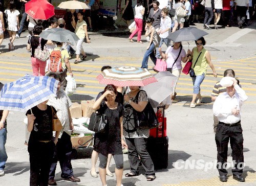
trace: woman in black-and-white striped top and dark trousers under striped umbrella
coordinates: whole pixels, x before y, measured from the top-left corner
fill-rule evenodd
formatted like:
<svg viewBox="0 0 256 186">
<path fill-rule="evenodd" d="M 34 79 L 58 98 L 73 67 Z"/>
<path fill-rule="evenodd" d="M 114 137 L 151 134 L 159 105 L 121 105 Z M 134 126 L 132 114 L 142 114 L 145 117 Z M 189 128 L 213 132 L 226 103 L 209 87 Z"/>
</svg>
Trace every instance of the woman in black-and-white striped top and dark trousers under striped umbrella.
<svg viewBox="0 0 256 186">
<path fill-rule="evenodd" d="M 128 146 L 128 159 L 130 162 L 130 173 L 125 177 L 133 177 L 139 175 L 139 158 L 145 169 L 147 181 L 156 179 L 154 164 L 146 149 L 146 138 L 150 135 L 150 129 L 135 129 L 134 109 L 142 112 L 148 102 L 148 97 L 144 90 L 140 90 L 139 86 L 130 86 L 129 94 L 124 95 L 124 115 L 123 115 L 123 135 Z M 138 96 L 137 96 L 138 94 Z M 136 97 L 138 100 L 136 101 Z"/>
</svg>

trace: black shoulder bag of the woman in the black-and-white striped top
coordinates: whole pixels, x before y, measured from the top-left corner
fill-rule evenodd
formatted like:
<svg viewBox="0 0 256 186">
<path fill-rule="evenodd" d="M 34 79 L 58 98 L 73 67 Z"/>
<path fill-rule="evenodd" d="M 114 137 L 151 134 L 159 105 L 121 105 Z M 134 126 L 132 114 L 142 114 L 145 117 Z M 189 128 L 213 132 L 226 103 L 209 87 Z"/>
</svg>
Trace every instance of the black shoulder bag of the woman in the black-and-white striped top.
<svg viewBox="0 0 256 186">
<path fill-rule="evenodd" d="M 135 97 L 136 103 L 138 103 L 139 92 Z M 158 127 L 159 122 L 150 101 L 147 102 L 147 105 L 142 112 L 138 112 L 134 109 L 134 121 L 135 129 L 153 129 Z"/>
</svg>

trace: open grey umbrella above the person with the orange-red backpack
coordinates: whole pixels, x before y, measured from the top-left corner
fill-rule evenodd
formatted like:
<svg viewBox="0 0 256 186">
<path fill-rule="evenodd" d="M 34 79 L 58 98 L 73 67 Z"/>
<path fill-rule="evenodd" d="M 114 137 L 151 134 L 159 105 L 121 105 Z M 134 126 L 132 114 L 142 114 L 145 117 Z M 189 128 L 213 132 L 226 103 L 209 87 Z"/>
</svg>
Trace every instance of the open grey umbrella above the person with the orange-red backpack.
<svg viewBox="0 0 256 186">
<path fill-rule="evenodd" d="M 73 45 L 76 44 L 76 41 L 79 40 L 79 37 L 75 33 L 70 32 L 67 29 L 61 29 L 61 28 L 48 29 L 40 33 L 39 36 L 44 39 L 49 39 L 52 41 L 70 42 Z"/>
</svg>

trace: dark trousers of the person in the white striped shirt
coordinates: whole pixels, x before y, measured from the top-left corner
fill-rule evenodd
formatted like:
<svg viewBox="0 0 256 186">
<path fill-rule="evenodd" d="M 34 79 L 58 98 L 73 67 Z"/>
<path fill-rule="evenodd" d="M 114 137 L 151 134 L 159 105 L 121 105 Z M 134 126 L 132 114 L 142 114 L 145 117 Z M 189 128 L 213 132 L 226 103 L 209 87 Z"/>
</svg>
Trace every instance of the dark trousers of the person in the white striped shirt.
<svg viewBox="0 0 256 186">
<path fill-rule="evenodd" d="M 71 165 L 72 154 L 72 143 L 70 135 L 63 132 L 61 137 L 58 139 L 54 155 L 52 157 L 52 165 L 49 173 L 49 179 L 54 179 L 55 170 L 57 167 L 57 161 L 59 158 L 59 165 L 61 168 L 61 177 L 70 178 L 74 176 L 73 169 Z"/>
</svg>

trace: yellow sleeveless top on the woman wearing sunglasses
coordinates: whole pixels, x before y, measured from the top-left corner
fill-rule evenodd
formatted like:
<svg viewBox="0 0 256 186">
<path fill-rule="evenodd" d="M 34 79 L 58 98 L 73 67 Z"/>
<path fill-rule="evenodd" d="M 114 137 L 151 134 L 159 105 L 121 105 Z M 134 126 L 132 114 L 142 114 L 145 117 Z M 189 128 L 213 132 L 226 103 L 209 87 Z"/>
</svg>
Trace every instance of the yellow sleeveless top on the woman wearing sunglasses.
<svg viewBox="0 0 256 186">
<path fill-rule="evenodd" d="M 194 67 L 195 62 L 198 58 L 197 63 L 194 67 L 194 71 L 195 71 L 196 76 L 202 75 L 203 73 L 204 73 L 204 75 L 206 75 L 206 71 L 207 71 L 207 67 L 208 67 L 208 63 L 207 63 L 207 60 L 206 60 L 206 57 L 205 57 L 206 50 L 203 48 L 201 52 L 202 52 L 202 54 L 198 58 L 200 52 L 197 51 L 196 47 L 193 49 L 193 59 L 192 59 L 191 68 Z"/>
</svg>

